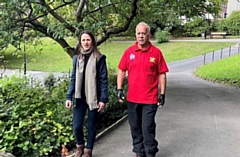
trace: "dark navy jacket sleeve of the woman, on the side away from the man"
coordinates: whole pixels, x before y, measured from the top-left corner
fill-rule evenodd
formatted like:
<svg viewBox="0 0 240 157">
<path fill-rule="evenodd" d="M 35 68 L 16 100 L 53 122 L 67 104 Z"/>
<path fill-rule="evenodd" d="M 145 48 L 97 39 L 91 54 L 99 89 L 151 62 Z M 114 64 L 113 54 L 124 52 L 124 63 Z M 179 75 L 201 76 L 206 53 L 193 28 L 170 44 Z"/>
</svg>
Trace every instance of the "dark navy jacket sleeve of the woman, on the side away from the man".
<svg viewBox="0 0 240 157">
<path fill-rule="evenodd" d="M 72 100 L 73 94 L 75 92 L 76 62 L 77 62 L 77 55 L 73 57 L 73 68 L 72 68 L 72 74 L 70 79 L 70 85 L 67 91 L 67 100 Z"/>
</svg>

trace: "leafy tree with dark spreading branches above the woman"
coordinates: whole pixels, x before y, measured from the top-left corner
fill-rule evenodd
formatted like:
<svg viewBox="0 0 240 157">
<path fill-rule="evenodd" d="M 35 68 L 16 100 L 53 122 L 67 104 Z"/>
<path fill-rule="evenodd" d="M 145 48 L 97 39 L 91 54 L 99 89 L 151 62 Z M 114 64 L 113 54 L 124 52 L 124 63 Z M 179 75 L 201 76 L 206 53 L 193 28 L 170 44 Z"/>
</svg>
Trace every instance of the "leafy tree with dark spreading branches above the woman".
<svg viewBox="0 0 240 157">
<path fill-rule="evenodd" d="M 0 0 L 0 50 L 19 48 L 23 40 L 42 35 L 59 43 L 72 57 L 66 36 L 88 29 L 101 35 L 98 45 L 111 34 L 128 29 L 137 14 L 138 0 Z"/>
</svg>

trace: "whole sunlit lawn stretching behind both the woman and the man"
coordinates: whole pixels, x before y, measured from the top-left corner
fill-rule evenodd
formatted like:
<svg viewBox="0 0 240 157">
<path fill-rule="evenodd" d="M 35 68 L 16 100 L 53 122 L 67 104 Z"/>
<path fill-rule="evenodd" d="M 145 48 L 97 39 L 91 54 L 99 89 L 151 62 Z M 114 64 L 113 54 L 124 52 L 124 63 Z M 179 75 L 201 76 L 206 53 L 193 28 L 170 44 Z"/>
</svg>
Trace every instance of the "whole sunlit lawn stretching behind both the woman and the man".
<svg viewBox="0 0 240 157">
<path fill-rule="evenodd" d="M 71 46 L 76 45 L 75 39 L 67 39 Z M 50 38 L 42 38 L 42 44 L 37 47 L 26 46 L 27 70 L 46 72 L 68 72 L 72 69 L 72 59 L 62 47 Z M 134 42 L 106 42 L 99 46 L 100 52 L 107 56 L 108 67 L 117 69 L 118 62 L 124 50 Z M 166 61 L 173 62 L 191 58 L 203 53 L 212 52 L 221 48 L 235 45 L 235 43 L 217 42 L 168 42 L 153 43 L 161 49 Z M 23 49 L 23 46 L 22 46 Z M 41 50 L 39 52 L 39 50 Z M 13 53 L 14 48 L 9 47 L 5 52 L 5 67 L 10 69 L 23 68 L 23 52 Z"/>
</svg>

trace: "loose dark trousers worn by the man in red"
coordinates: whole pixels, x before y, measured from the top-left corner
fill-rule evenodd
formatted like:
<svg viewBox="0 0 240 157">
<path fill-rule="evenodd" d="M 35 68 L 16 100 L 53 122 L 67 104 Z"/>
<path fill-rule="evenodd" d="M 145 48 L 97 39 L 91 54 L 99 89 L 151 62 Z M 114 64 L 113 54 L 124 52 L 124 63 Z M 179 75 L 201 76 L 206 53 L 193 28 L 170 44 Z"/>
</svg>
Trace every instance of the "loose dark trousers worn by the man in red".
<svg viewBox="0 0 240 157">
<path fill-rule="evenodd" d="M 128 120 L 133 140 L 133 152 L 139 156 L 153 157 L 158 152 L 158 142 L 155 139 L 157 108 L 157 104 L 128 102 Z"/>
</svg>

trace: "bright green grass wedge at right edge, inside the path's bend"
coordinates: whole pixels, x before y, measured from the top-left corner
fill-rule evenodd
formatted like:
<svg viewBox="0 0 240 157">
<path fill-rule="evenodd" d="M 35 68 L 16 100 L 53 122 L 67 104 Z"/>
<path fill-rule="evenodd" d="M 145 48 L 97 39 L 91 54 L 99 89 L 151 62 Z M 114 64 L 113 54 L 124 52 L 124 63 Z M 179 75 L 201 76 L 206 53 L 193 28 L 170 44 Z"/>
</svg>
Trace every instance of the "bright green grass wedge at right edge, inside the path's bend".
<svg viewBox="0 0 240 157">
<path fill-rule="evenodd" d="M 240 54 L 199 67 L 195 74 L 209 81 L 240 87 Z"/>
</svg>

